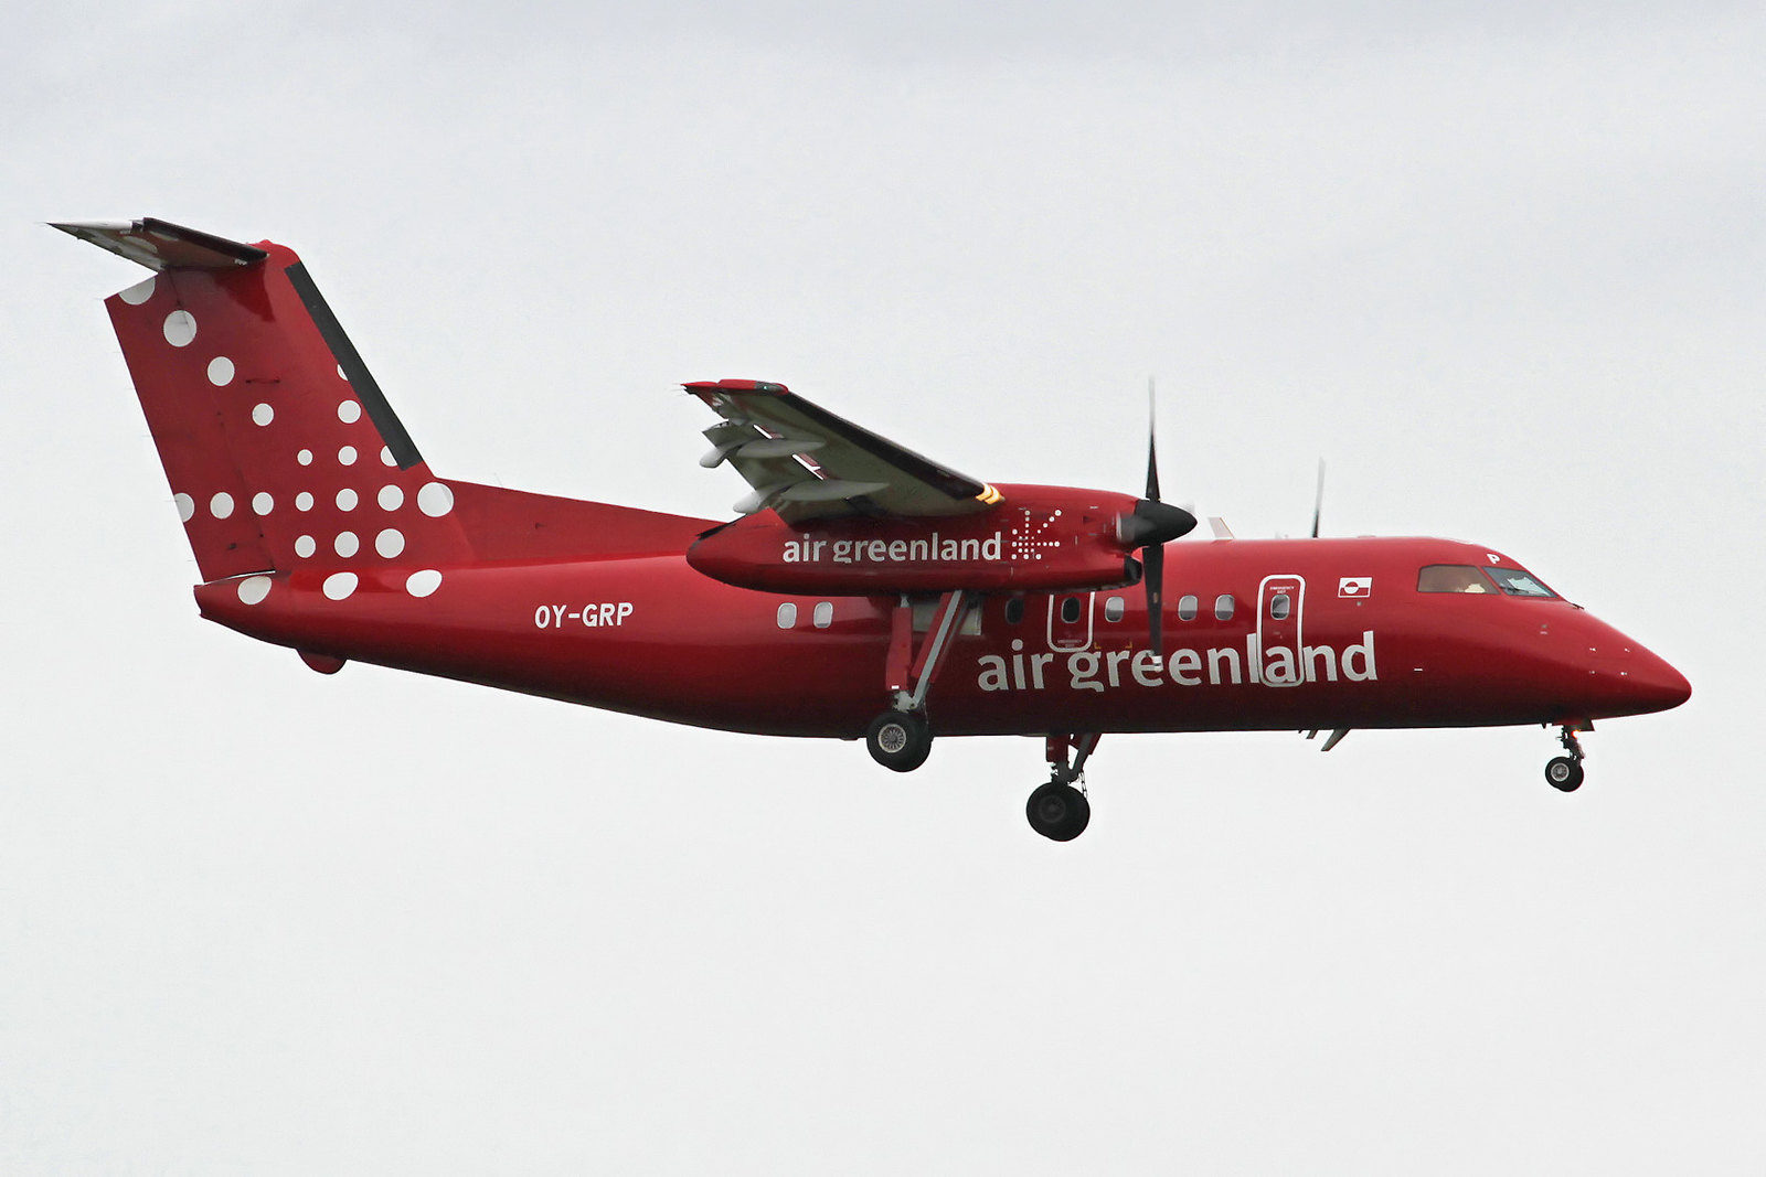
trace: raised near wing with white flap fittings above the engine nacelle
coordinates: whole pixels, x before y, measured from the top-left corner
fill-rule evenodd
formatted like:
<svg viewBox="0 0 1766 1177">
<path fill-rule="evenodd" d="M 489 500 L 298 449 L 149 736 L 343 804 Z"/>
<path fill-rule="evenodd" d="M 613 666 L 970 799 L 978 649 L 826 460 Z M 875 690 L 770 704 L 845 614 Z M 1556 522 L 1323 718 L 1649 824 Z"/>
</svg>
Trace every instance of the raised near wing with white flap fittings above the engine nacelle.
<svg viewBox="0 0 1766 1177">
<path fill-rule="evenodd" d="M 719 379 L 685 388 L 724 418 L 705 431 L 712 450 L 699 464 L 736 468 L 752 487 L 735 506 L 743 515 L 770 506 L 786 522 L 922 519 L 968 515 L 1000 501 L 985 482 L 835 416 L 784 385 Z"/>
</svg>

